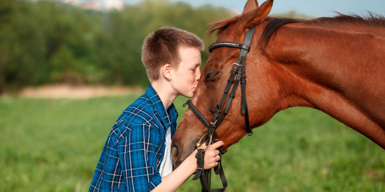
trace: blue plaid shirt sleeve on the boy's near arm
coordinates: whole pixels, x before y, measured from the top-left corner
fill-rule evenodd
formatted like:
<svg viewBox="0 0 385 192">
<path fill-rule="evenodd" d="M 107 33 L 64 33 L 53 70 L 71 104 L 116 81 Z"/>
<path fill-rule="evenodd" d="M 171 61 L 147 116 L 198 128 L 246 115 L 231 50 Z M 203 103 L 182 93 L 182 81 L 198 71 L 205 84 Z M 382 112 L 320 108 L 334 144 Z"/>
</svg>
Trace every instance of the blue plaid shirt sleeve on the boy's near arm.
<svg viewBox="0 0 385 192">
<path fill-rule="evenodd" d="M 133 127 L 118 143 L 118 154 L 128 191 L 150 191 L 161 182 L 156 170 L 160 134 L 154 127 Z"/>
</svg>

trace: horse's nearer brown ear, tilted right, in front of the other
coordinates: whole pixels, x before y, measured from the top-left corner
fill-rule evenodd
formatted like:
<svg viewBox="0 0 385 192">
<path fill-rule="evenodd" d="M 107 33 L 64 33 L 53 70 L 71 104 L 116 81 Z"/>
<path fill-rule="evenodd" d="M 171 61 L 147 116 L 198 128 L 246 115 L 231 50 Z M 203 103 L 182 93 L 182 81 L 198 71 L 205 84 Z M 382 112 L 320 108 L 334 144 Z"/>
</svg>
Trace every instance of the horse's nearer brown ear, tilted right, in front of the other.
<svg viewBox="0 0 385 192">
<path fill-rule="evenodd" d="M 274 0 L 267 0 L 257 8 L 246 12 L 238 20 L 238 23 L 241 24 L 245 29 L 261 23 L 270 13 L 271 7 L 273 6 L 273 1 Z"/>
</svg>

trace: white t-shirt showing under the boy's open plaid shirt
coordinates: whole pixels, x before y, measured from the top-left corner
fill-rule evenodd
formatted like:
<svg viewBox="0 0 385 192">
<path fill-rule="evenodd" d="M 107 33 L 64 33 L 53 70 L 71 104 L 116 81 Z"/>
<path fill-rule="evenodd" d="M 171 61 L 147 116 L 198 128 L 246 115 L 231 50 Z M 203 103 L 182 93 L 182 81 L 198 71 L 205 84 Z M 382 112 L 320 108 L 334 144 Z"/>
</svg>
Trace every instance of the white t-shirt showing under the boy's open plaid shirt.
<svg viewBox="0 0 385 192">
<path fill-rule="evenodd" d="M 171 128 L 167 128 L 163 160 L 160 163 L 159 173 L 161 177 L 167 176 L 172 172 L 172 155 L 171 155 Z"/>
</svg>

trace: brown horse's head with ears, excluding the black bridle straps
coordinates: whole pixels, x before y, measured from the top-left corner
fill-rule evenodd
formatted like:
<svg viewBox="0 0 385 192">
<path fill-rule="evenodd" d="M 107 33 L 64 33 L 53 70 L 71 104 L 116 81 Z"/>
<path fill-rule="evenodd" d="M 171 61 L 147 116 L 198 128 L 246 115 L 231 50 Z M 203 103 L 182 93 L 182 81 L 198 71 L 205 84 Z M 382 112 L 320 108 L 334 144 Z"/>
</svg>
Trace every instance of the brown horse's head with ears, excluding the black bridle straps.
<svg viewBox="0 0 385 192">
<path fill-rule="evenodd" d="M 272 95 L 275 94 L 275 91 L 271 91 L 271 86 L 274 87 L 275 82 L 271 82 L 271 79 L 264 74 L 269 69 L 258 65 L 258 63 L 266 63 L 267 61 L 260 56 L 262 51 L 257 47 L 263 31 L 263 24 L 261 23 L 267 17 L 272 5 L 273 0 L 267 0 L 260 6 L 258 6 L 257 0 L 248 0 L 241 15 L 219 21 L 209 31 L 218 30 L 217 41 L 242 43 L 248 29 L 257 25 L 246 60 L 246 95 L 252 126 L 265 123 L 276 112 L 275 107 L 272 107 L 274 102 L 271 100 L 275 97 Z M 222 99 L 233 63 L 237 61 L 239 53 L 240 49 L 238 48 L 221 47 L 213 50 L 208 58 L 192 100 L 208 120 L 212 118 L 217 104 Z M 258 112 L 253 113 L 253 111 Z M 238 86 L 230 110 L 216 130 L 219 138 L 225 142 L 224 149 L 238 142 L 247 133 L 244 118 L 241 113 L 241 87 Z M 195 143 L 207 131 L 206 126 L 201 123 L 197 116 L 190 109 L 187 109 L 172 139 L 171 151 L 175 167 L 195 149 Z"/>
</svg>

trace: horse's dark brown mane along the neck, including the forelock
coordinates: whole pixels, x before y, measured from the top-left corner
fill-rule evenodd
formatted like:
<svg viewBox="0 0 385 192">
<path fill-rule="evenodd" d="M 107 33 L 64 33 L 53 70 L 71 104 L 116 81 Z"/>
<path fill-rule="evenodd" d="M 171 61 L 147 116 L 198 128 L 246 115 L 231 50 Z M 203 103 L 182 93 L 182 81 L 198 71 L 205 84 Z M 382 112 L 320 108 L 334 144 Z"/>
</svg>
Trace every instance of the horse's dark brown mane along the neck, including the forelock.
<svg viewBox="0 0 385 192">
<path fill-rule="evenodd" d="M 314 19 L 300 19 L 300 18 L 288 18 L 288 17 L 272 17 L 268 16 L 265 20 L 268 21 L 262 36 L 258 44 L 264 47 L 269 43 L 270 38 L 276 33 L 279 27 L 288 24 L 288 23 L 329 23 L 329 24 L 343 24 L 351 23 L 358 25 L 366 26 L 380 26 L 385 27 L 385 17 L 370 11 L 367 11 L 367 15 L 357 15 L 357 14 L 342 14 L 336 12 L 338 15 L 334 17 L 318 17 Z M 228 26 L 238 21 L 241 15 L 234 16 L 228 19 L 220 20 L 214 23 L 211 23 L 212 27 L 207 31 L 208 34 L 212 34 L 217 30 L 217 35 L 221 34 Z"/>
</svg>

